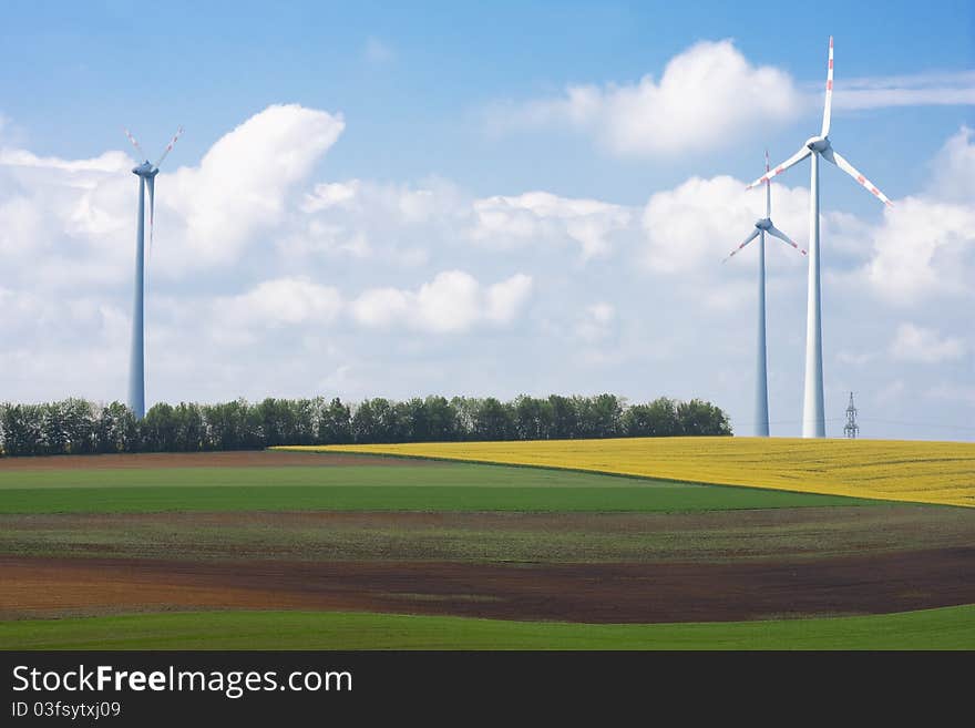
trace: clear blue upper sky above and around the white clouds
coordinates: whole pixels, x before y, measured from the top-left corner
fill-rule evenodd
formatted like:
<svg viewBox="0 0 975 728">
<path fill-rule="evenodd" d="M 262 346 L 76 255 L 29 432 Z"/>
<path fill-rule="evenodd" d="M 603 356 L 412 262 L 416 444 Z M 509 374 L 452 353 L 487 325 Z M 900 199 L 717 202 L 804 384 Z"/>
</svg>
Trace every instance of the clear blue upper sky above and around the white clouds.
<svg viewBox="0 0 975 728">
<path fill-rule="evenodd" d="M 438 174 L 483 194 L 543 187 L 636 203 L 649 185 L 679 178 L 682 165 L 607 160 L 573 135 L 497 140 L 472 119 L 499 100 L 547 95 L 567 83 L 659 74 L 699 40 L 731 38 L 751 62 L 817 88 L 830 33 L 840 81 L 975 65 L 969 2 L 885 2 L 882 11 L 824 2 L 817 4 L 823 20 L 812 21 L 794 3 L 745 4 L 7 2 L 0 92 L 4 114 L 44 154 L 95 155 L 119 143 L 123 125 L 160 146 L 183 123 L 191 133 L 174 154 L 179 164 L 266 105 L 300 103 L 340 110 L 349 122 L 329 156 L 338 175 Z M 391 57 L 370 62 L 370 39 Z M 861 153 L 863 164 L 890 180 L 894 194 L 897 184 L 906 191 L 916 177 L 896 166 L 887 145 L 914 133 L 927 156 L 961 115 L 892 114 L 895 124 Z M 846 121 L 840 133 L 851 143 L 876 132 L 876 115 Z M 794 146 L 791 130 L 776 132 L 769 146 Z M 750 174 L 755 154 L 745 147 L 695 162 L 704 174 Z"/>
</svg>

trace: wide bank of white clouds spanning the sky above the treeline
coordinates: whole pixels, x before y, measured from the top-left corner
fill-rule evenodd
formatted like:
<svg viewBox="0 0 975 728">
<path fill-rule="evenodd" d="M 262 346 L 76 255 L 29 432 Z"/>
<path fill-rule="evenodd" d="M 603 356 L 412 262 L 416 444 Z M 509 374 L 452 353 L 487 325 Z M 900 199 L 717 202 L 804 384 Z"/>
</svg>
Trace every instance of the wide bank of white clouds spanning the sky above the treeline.
<svg viewBox="0 0 975 728">
<path fill-rule="evenodd" d="M 627 103 L 670 103 L 670 82 L 709 53 L 766 78 L 736 66 L 730 43 L 705 44 Z M 601 113 L 627 98 L 597 91 Z M 763 216 L 761 191 L 694 167 L 643 205 L 337 178 L 328 151 L 342 126 L 271 106 L 160 175 L 151 401 L 618 391 L 712 399 L 749 431 L 756 250 L 721 259 Z M 124 397 L 134 161 L 48 157 L 2 139 L 0 400 Z M 972 158 L 963 127 L 930 183 L 882 216 L 823 215 L 830 411 L 851 389 L 865 417 L 890 420 L 921 400 L 957 420 L 971 401 Z M 772 218 L 802 247 L 808 202 L 801 186 L 772 186 Z M 799 428 L 805 259 L 767 245 L 772 417 L 787 434 Z"/>
</svg>

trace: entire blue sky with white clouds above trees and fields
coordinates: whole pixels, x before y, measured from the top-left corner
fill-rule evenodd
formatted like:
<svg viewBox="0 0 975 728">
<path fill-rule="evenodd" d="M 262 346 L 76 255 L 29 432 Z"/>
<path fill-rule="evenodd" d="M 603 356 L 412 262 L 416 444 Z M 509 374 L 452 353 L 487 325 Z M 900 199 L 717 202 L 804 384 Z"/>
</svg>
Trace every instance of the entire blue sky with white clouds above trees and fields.
<svg viewBox="0 0 975 728">
<path fill-rule="evenodd" d="M 810 18 L 781 2 L 8 1 L 0 21 L 0 250 L 14 252 L 0 295 L 25 321 L 0 349 L 11 372 L 0 399 L 124 396 L 112 367 L 126 361 L 134 181 L 129 161 L 62 163 L 131 156 L 122 126 L 152 155 L 183 124 L 160 178 L 151 401 L 700 394 L 746 433 L 753 255 L 730 270 L 710 260 L 761 212 L 760 196 L 738 191 L 764 147 L 777 162 L 818 132 L 832 33 L 834 146 L 907 204 L 884 212 L 824 172 L 828 409 L 853 388 L 871 434 L 975 438 L 964 429 L 975 337 L 962 315 L 975 301 L 963 275 L 973 211 L 957 193 L 972 184 L 971 2 L 819 3 Z M 760 82 L 769 93 L 749 95 Z M 687 86 L 677 101 L 673 83 Z M 41 168 L 54 172 L 28 172 Z M 800 243 L 807 170 L 773 192 L 773 218 Z M 259 184 L 222 196 L 224 173 Z M 234 207 L 248 195 L 260 204 Z M 920 230 L 909 213 L 942 222 Z M 778 410 L 790 434 L 804 278 L 784 252 L 769 255 L 772 420 Z M 58 262 L 88 273 L 68 285 Z M 189 304 L 220 331 L 187 327 Z M 59 306 L 80 317 L 70 331 L 43 325 Z M 466 314 L 444 322 L 438 306 Z M 235 307 L 265 328 L 236 330 Z M 295 352 L 287 382 L 275 379 L 283 347 Z M 59 370 L 65 350 L 85 362 L 76 377 Z M 207 352 L 206 384 L 175 350 Z M 519 357 L 530 363 L 506 366 Z"/>
</svg>

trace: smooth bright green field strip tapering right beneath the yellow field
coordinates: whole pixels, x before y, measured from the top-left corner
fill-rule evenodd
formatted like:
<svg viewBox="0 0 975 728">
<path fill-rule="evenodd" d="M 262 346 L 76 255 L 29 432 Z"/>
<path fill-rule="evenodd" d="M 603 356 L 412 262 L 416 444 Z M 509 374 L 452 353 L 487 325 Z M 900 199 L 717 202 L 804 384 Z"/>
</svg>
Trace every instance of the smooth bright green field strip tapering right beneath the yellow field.
<svg viewBox="0 0 975 728">
<path fill-rule="evenodd" d="M 681 512 L 858 504 L 875 502 L 471 464 L 0 472 L 0 513 Z"/>
</svg>

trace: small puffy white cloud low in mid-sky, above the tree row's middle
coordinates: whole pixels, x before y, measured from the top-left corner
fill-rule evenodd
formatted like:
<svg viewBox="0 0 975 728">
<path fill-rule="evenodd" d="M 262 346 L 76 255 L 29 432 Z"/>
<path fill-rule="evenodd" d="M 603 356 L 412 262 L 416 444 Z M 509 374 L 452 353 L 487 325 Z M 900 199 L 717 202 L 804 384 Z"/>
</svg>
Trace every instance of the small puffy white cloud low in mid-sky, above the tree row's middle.
<svg viewBox="0 0 975 728">
<path fill-rule="evenodd" d="M 510 322 L 524 306 L 531 286 L 531 277 L 519 274 L 484 288 L 468 273 L 447 270 L 415 291 L 367 290 L 352 301 L 351 309 L 366 326 L 406 325 L 420 331 L 456 334 L 482 320 Z"/>
</svg>

